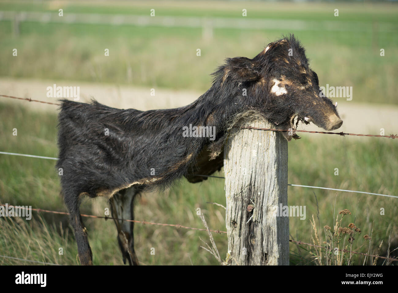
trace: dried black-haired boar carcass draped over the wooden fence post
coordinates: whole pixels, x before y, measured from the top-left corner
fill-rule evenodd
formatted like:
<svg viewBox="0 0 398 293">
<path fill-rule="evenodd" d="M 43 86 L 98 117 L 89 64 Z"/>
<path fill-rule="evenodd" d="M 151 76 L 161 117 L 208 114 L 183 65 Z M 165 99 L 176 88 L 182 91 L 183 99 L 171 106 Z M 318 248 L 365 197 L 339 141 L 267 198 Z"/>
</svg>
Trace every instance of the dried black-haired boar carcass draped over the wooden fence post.
<svg viewBox="0 0 398 293">
<path fill-rule="evenodd" d="M 82 196 L 107 196 L 114 217 L 133 219 L 133 199 L 140 191 L 166 187 L 183 176 L 198 182 L 203 180 L 195 176 L 199 172 L 219 170 L 228 129 L 244 113 L 254 111 L 285 130 L 295 128 L 295 118 L 326 130 L 342 124 L 332 101 L 320 95 L 318 76 L 294 36 L 270 43 L 253 59 L 228 58 L 213 75 L 206 93 L 176 109 L 124 110 L 62 100 L 57 168 L 63 169 L 62 194 L 82 264 L 92 264 L 80 216 Z M 288 141 L 299 138 L 291 131 L 282 134 Z M 128 209 L 123 212 L 118 204 Z M 138 264 L 133 224 L 115 223 L 123 260 Z"/>
</svg>

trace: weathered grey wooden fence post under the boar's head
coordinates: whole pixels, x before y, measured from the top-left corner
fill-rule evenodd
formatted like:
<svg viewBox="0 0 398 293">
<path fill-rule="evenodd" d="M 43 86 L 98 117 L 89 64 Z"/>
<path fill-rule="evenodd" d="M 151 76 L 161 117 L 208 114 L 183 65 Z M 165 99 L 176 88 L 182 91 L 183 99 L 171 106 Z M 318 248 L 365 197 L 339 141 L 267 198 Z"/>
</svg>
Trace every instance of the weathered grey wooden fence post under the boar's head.
<svg viewBox="0 0 398 293">
<path fill-rule="evenodd" d="M 241 119 L 224 147 L 227 263 L 288 265 L 289 217 L 276 216 L 287 205 L 287 141 L 267 121 Z"/>
</svg>

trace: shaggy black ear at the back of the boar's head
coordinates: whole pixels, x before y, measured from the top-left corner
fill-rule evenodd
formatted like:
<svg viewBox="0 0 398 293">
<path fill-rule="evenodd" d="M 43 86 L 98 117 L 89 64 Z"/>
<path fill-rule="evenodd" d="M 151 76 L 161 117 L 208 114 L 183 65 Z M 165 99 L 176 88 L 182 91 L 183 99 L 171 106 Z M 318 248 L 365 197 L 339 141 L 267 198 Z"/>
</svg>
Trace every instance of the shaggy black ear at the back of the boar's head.
<svg viewBox="0 0 398 293">
<path fill-rule="evenodd" d="M 234 80 L 257 81 L 261 78 L 257 62 L 246 57 L 228 58 L 225 72 Z"/>
</svg>

